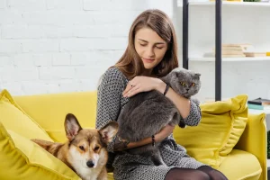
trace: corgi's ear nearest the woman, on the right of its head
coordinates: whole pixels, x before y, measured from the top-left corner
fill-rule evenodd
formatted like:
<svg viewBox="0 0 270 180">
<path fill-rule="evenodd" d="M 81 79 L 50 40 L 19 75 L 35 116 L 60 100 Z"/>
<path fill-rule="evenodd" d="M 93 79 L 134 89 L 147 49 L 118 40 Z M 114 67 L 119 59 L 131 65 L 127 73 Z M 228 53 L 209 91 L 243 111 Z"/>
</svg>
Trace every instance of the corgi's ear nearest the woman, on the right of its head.
<svg viewBox="0 0 270 180">
<path fill-rule="evenodd" d="M 103 126 L 98 132 L 103 138 L 103 142 L 108 144 L 112 141 L 112 138 L 115 136 L 115 134 L 118 131 L 118 123 L 117 121 L 110 121 L 106 125 Z"/>
</svg>

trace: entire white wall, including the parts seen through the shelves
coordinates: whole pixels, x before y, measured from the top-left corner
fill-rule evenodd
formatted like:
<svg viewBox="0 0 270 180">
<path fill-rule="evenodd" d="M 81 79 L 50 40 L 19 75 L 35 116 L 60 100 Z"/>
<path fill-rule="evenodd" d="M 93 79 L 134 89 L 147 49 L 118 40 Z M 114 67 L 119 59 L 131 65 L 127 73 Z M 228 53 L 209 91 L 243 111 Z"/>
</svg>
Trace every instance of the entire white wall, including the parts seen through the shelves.
<svg viewBox="0 0 270 180">
<path fill-rule="evenodd" d="M 181 1 L 178 3 L 181 4 Z M 0 89 L 12 94 L 94 90 L 127 45 L 130 24 L 159 8 L 174 21 L 182 66 L 182 7 L 176 0 L 0 0 Z M 269 8 L 224 7 L 223 42 L 269 50 Z M 260 20 L 260 21 L 258 21 Z M 214 7 L 190 8 L 190 57 L 214 46 Z M 202 73 L 201 101 L 214 98 L 214 62 L 190 62 Z M 270 98 L 270 61 L 223 62 L 222 97 Z"/>
</svg>

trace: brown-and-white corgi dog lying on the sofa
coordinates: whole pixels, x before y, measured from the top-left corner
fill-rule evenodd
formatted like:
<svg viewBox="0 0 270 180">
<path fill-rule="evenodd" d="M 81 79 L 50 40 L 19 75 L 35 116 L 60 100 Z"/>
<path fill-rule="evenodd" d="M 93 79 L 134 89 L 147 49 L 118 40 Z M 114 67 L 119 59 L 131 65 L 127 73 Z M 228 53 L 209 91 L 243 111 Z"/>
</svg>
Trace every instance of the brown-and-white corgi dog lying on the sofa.
<svg viewBox="0 0 270 180">
<path fill-rule="evenodd" d="M 65 119 L 66 143 L 31 139 L 58 157 L 83 180 L 106 180 L 107 145 L 118 131 L 118 123 L 110 121 L 100 130 L 82 129 L 72 113 Z"/>
</svg>

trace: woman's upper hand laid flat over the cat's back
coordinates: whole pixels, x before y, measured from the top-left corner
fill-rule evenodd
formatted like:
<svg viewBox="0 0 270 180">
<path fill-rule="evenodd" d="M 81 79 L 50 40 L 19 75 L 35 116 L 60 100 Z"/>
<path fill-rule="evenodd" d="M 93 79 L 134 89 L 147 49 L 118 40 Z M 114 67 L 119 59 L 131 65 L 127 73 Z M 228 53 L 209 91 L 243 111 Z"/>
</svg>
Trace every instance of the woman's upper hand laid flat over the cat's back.
<svg viewBox="0 0 270 180">
<path fill-rule="evenodd" d="M 160 86 L 166 86 L 166 84 L 158 78 L 149 76 L 135 76 L 132 80 L 130 80 L 122 94 L 124 97 L 131 97 L 141 92 L 159 90 Z"/>
</svg>

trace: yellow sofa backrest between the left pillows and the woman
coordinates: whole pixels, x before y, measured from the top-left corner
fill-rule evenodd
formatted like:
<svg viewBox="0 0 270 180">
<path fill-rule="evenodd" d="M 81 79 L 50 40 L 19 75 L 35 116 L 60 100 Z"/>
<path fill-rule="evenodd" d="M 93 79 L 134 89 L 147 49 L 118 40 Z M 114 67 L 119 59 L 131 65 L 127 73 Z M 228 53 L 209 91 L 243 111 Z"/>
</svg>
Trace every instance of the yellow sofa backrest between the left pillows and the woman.
<svg viewBox="0 0 270 180">
<path fill-rule="evenodd" d="M 96 114 L 96 92 L 94 91 L 20 95 L 14 96 L 14 100 L 55 141 L 67 140 L 64 129 L 67 113 L 75 114 L 83 128 L 94 128 Z"/>
</svg>

